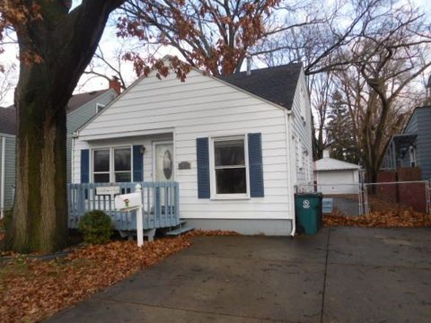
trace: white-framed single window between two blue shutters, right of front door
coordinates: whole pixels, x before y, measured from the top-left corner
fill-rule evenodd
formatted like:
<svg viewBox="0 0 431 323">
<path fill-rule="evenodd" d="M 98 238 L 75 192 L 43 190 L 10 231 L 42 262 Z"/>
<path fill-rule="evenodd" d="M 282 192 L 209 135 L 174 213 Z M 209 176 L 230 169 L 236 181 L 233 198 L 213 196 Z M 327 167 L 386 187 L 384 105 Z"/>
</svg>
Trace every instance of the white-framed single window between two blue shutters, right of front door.
<svg viewBox="0 0 431 323">
<path fill-rule="evenodd" d="M 214 190 L 216 196 L 247 195 L 245 139 L 216 138 L 214 146 Z"/>
</svg>

